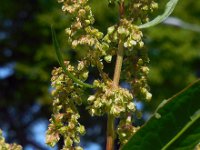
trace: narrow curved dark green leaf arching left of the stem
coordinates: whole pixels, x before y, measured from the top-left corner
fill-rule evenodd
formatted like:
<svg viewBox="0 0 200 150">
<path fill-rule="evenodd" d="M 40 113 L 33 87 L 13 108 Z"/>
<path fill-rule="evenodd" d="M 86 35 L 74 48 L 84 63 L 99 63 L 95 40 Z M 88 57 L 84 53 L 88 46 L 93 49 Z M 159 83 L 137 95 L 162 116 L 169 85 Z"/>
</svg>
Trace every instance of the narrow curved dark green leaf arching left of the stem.
<svg viewBox="0 0 200 150">
<path fill-rule="evenodd" d="M 65 72 L 65 74 L 70 77 L 74 82 L 76 82 L 77 84 L 79 84 L 80 86 L 86 87 L 86 88 L 94 88 L 93 85 L 87 84 L 82 82 L 81 80 L 77 79 L 73 74 L 71 74 L 65 67 L 64 65 L 64 60 L 62 58 L 62 54 L 61 54 L 61 50 L 60 50 L 60 46 L 58 44 L 58 40 L 56 37 L 56 33 L 53 29 L 53 26 L 51 26 L 51 33 L 52 33 L 52 40 L 53 40 L 53 45 L 55 48 L 55 52 L 56 52 L 56 56 L 58 58 L 58 62 L 60 64 L 60 66 L 62 67 L 63 71 Z"/>
</svg>

